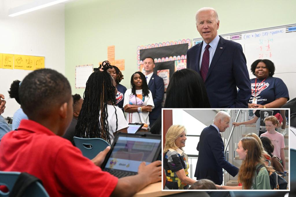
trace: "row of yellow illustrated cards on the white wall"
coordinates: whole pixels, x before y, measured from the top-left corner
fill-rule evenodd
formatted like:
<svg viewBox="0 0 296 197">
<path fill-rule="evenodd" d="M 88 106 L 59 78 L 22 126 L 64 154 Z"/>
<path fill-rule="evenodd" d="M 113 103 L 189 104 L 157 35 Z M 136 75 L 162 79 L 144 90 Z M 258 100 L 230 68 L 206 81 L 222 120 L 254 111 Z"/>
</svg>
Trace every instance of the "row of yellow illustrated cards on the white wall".
<svg viewBox="0 0 296 197">
<path fill-rule="evenodd" d="M 37 70 L 45 68 L 45 57 L 0 53 L 0 68 Z"/>
</svg>

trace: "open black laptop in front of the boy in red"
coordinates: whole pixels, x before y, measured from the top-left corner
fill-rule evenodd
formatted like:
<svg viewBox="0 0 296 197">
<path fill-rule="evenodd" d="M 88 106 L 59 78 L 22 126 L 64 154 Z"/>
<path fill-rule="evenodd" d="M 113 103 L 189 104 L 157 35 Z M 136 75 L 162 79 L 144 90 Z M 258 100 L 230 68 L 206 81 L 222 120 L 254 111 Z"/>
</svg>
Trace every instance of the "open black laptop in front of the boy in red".
<svg viewBox="0 0 296 197">
<path fill-rule="evenodd" d="M 121 178 L 136 175 L 141 162 L 150 164 L 161 151 L 161 135 L 118 133 L 102 170 Z"/>
</svg>

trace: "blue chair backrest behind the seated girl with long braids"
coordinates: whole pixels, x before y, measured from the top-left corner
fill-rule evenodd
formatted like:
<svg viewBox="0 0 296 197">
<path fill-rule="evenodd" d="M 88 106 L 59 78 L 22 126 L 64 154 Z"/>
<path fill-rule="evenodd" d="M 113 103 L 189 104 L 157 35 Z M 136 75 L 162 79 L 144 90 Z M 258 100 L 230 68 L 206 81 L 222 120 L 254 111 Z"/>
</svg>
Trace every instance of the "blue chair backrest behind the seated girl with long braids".
<svg viewBox="0 0 296 197">
<path fill-rule="evenodd" d="M 83 156 L 94 159 L 94 157 L 103 151 L 110 144 L 101 138 L 78 138 L 74 137 L 74 143 L 79 148 Z"/>
</svg>

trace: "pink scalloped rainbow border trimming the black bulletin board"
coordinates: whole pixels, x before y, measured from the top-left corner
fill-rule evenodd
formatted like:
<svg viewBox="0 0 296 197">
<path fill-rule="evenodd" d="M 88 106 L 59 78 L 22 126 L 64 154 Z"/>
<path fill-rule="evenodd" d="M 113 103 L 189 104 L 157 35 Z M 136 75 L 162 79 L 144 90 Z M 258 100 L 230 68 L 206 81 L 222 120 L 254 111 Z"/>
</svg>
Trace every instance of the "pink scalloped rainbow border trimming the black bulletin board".
<svg viewBox="0 0 296 197">
<path fill-rule="evenodd" d="M 154 44 L 148 44 L 145 46 L 138 46 L 137 47 L 137 64 L 138 64 L 138 69 L 140 69 L 140 64 L 143 64 L 143 61 L 140 60 L 140 50 L 141 49 L 151 49 L 151 48 L 156 48 L 156 47 L 162 47 L 162 46 L 170 46 L 170 45 L 176 45 L 176 44 L 185 44 L 188 43 L 188 49 L 191 48 L 191 40 L 189 38 L 183 39 L 183 40 L 178 40 L 178 41 L 168 41 L 168 42 L 163 42 L 163 43 L 154 43 Z M 155 58 L 154 62 L 168 62 L 168 61 L 173 61 L 173 60 L 180 60 L 180 59 L 186 59 L 186 55 L 181 55 L 181 56 L 170 56 L 170 57 L 162 57 L 162 58 Z"/>
</svg>

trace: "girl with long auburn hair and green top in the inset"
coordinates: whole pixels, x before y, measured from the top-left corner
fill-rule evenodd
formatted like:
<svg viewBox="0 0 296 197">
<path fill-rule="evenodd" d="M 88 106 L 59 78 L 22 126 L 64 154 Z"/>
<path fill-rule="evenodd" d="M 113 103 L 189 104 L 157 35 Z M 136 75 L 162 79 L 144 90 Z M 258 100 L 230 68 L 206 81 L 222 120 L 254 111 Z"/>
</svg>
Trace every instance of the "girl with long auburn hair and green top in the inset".
<svg viewBox="0 0 296 197">
<path fill-rule="evenodd" d="M 236 151 L 239 159 L 243 160 L 238 173 L 242 186 L 216 185 L 217 189 L 270 190 L 269 172 L 274 172 L 274 169 L 265 164 L 258 141 L 253 137 L 242 138 Z"/>
</svg>

